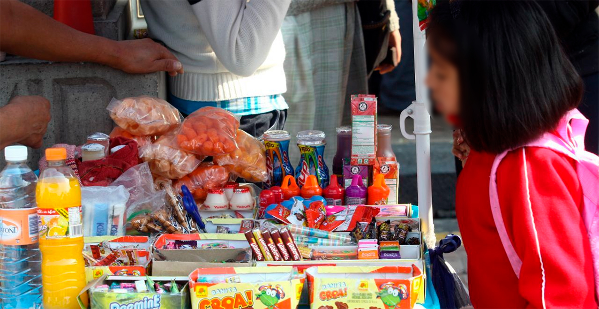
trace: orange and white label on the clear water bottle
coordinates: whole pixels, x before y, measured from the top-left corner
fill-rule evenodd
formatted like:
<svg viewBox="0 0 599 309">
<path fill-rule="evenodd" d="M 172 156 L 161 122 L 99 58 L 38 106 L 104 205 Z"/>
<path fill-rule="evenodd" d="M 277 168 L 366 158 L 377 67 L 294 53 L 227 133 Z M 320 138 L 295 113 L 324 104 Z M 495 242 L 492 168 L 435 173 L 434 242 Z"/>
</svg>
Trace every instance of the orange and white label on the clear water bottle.
<svg viewBox="0 0 599 309">
<path fill-rule="evenodd" d="M 37 207 L 0 209 L 0 228 L 0 244 L 21 246 L 37 243 Z"/>
</svg>

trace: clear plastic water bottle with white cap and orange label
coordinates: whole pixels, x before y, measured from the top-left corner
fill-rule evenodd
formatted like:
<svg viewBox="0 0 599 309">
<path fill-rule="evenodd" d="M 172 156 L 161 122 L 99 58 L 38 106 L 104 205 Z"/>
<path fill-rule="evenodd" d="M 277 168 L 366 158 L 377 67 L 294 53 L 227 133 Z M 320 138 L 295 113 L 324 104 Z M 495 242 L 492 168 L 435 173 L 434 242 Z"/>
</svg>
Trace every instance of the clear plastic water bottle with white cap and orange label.
<svg viewBox="0 0 599 309">
<path fill-rule="evenodd" d="M 27 147 L 4 149 L 0 172 L 0 308 L 41 308 L 41 253 L 35 204 L 37 176 Z"/>
</svg>

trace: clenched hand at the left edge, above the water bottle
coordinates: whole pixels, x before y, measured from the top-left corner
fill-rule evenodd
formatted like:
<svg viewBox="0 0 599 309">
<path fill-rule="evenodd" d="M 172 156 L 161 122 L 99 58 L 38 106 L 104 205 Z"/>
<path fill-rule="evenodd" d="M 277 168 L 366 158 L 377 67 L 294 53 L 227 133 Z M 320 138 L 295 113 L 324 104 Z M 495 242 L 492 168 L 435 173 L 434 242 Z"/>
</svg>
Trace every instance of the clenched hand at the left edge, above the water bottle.
<svg viewBox="0 0 599 309">
<path fill-rule="evenodd" d="M 50 122 L 50 101 L 40 96 L 17 96 L 0 108 L 1 148 L 22 143 L 40 148 Z"/>
</svg>

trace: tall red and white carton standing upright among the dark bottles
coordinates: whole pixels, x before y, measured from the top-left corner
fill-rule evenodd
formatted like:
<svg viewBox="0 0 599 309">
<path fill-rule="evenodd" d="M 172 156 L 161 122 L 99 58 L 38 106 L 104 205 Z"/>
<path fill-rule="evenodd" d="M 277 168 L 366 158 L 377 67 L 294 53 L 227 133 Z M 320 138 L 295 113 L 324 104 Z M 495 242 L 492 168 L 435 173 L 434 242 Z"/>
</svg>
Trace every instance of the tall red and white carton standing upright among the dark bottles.
<svg viewBox="0 0 599 309">
<path fill-rule="evenodd" d="M 352 165 L 373 165 L 377 146 L 377 98 L 352 94 Z"/>
</svg>

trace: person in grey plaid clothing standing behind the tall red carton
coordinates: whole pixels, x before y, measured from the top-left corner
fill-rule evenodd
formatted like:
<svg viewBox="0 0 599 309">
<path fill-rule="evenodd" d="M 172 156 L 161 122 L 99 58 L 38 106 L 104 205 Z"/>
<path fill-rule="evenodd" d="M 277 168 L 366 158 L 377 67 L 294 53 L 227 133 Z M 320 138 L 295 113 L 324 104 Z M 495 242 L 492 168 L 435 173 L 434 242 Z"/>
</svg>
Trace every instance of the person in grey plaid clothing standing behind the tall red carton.
<svg viewBox="0 0 599 309">
<path fill-rule="evenodd" d="M 373 1 L 375 2 L 375 1 Z M 400 49 L 401 36 L 393 1 L 385 0 L 389 46 Z M 328 149 L 335 149 L 335 128 L 341 126 L 350 94 L 368 93 L 368 72 L 358 7 L 354 0 L 292 0 L 282 26 L 285 41 L 287 92 L 293 114 L 286 122 L 292 136 L 301 130 L 322 130 Z M 385 47 L 386 48 L 386 47 Z M 397 59 L 399 60 L 399 59 Z M 380 68 L 390 71 L 392 68 Z M 299 160 L 297 147 L 290 148 Z M 330 162 L 334 151 L 327 151 Z"/>
</svg>

